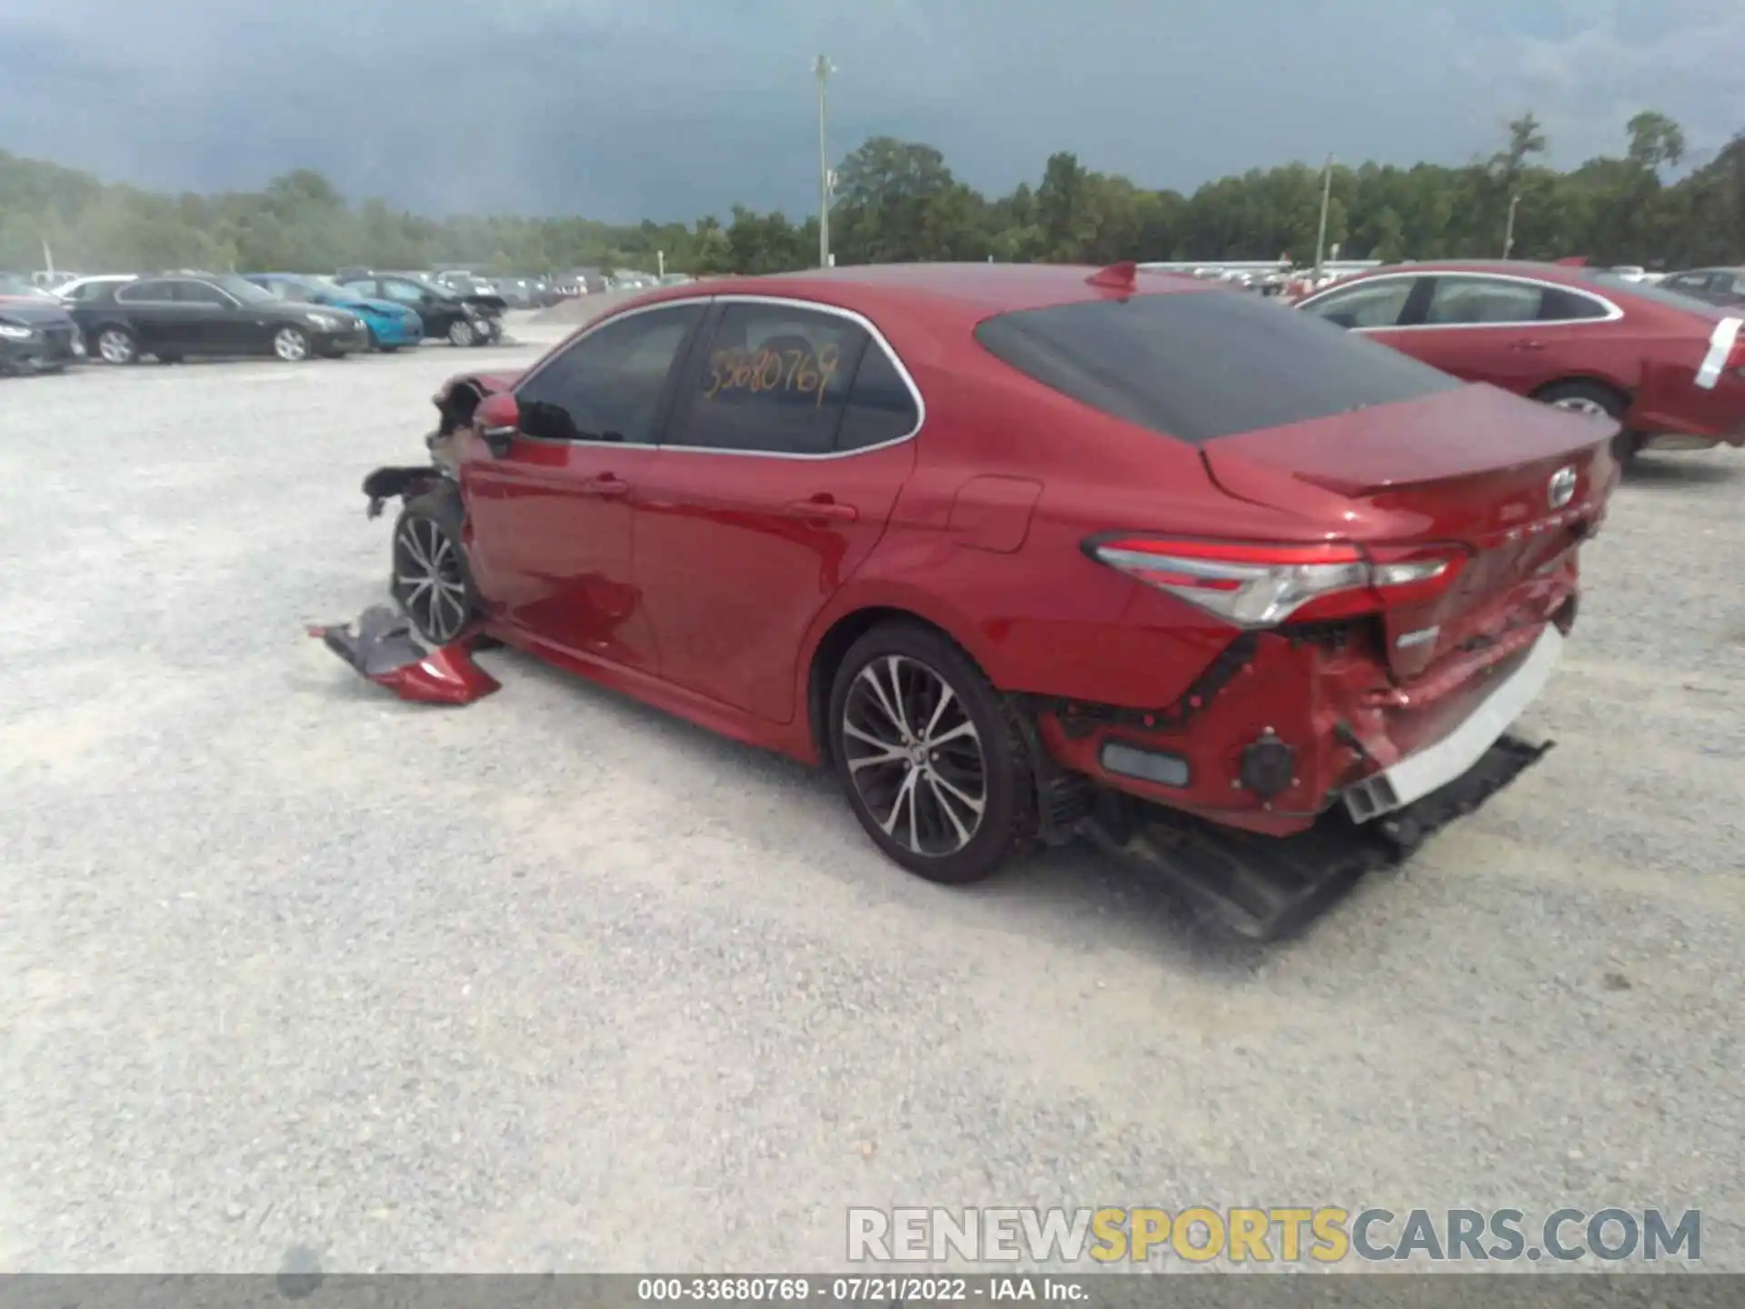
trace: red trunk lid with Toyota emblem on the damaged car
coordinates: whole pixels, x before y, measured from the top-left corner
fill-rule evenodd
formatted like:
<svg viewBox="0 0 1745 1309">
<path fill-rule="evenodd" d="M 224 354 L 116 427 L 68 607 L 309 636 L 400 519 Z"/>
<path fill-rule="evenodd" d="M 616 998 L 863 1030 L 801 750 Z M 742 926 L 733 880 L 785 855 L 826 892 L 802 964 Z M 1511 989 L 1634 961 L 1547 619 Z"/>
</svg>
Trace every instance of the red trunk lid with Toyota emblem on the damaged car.
<svg viewBox="0 0 1745 1309">
<path fill-rule="evenodd" d="M 1201 452 L 1227 494 L 1324 518 L 1328 536 L 1377 560 L 1459 548 L 1447 588 L 1384 611 L 1389 668 L 1406 679 L 1562 602 L 1567 586 L 1553 574 L 1604 517 L 1616 433 L 1609 421 L 1466 386 L 1223 436 Z"/>
</svg>

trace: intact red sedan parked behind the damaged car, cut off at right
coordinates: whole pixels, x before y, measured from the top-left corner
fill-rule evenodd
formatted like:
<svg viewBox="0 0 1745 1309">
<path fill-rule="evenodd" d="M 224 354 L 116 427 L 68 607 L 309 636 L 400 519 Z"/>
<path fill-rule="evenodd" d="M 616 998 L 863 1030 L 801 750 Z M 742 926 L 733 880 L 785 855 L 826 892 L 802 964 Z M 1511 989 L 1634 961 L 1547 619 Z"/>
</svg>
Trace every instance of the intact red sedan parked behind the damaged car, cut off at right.
<svg viewBox="0 0 1745 1309">
<path fill-rule="evenodd" d="M 1373 269 L 1297 309 L 1468 382 L 1623 426 L 1642 449 L 1745 445 L 1745 312 L 1565 264 Z"/>
</svg>

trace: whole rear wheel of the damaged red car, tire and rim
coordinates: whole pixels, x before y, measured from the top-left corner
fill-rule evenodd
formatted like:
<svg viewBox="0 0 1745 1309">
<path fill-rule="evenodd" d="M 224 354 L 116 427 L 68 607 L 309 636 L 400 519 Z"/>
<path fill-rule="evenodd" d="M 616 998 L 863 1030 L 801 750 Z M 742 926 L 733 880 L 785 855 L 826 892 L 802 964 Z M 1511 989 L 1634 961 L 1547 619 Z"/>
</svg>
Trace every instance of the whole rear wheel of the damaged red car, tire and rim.
<svg viewBox="0 0 1745 1309">
<path fill-rule="evenodd" d="M 928 728 L 951 747 L 925 749 Z M 923 740 L 909 752 L 906 737 Z M 1012 707 L 934 628 L 881 623 L 850 646 L 831 686 L 829 756 L 867 836 L 928 881 L 981 881 L 1037 836 L 1037 791 Z"/>
</svg>

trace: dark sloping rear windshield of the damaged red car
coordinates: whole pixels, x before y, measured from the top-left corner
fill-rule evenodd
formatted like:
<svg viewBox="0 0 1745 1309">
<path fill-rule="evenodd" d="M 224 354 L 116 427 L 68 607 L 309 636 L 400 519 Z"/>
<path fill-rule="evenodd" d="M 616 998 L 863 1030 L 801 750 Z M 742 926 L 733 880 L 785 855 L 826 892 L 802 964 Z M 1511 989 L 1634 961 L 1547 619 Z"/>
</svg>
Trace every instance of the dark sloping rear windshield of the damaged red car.
<svg viewBox="0 0 1745 1309">
<path fill-rule="evenodd" d="M 1194 445 L 1461 386 L 1358 333 L 1234 290 L 1023 309 L 986 319 L 975 339 L 1044 386 Z"/>
</svg>

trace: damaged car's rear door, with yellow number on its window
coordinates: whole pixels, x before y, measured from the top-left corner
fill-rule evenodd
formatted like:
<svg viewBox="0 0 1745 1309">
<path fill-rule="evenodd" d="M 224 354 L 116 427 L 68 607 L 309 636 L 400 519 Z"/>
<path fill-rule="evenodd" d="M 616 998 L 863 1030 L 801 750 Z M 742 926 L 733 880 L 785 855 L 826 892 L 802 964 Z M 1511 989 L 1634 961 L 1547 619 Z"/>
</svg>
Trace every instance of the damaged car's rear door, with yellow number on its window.
<svg viewBox="0 0 1745 1309">
<path fill-rule="evenodd" d="M 872 552 L 921 400 L 883 337 L 822 305 L 726 297 L 635 497 L 661 677 L 790 723 L 799 644 Z"/>
</svg>

